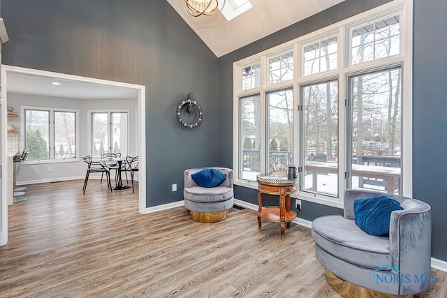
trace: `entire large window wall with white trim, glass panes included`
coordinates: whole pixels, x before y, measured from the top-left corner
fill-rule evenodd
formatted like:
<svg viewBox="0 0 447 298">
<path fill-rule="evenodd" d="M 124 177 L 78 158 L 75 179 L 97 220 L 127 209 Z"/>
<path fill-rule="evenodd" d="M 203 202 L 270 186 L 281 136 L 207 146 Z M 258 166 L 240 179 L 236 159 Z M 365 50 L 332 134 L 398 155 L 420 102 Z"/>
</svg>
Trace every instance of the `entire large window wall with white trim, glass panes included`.
<svg viewBox="0 0 447 298">
<path fill-rule="evenodd" d="M 235 62 L 235 184 L 256 188 L 256 174 L 293 163 L 303 200 L 411 195 L 411 6 L 393 1 Z"/>
</svg>

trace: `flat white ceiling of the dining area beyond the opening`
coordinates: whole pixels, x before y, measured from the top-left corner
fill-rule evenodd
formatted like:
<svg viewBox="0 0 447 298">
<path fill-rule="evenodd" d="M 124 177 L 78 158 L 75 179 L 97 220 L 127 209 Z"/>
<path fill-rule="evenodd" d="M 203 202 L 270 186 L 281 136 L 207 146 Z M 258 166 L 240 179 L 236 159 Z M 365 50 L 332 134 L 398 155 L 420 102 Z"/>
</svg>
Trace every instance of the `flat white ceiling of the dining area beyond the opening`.
<svg viewBox="0 0 447 298">
<path fill-rule="evenodd" d="M 59 82 L 55 86 L 52 82 Z M 8 72 L 8 92 L 73 99 L 138 98 L 136 89 L 45 75 Z"/>
</svg>

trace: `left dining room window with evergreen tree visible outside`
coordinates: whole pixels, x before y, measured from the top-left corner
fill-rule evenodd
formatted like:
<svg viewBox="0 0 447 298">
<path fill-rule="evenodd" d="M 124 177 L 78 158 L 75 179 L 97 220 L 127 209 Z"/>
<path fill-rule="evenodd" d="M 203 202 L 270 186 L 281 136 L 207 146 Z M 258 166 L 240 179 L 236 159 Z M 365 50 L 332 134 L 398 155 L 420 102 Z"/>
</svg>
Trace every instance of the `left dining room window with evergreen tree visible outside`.
<svg viewBox="0 0 447 298">
<path fill-rule="evenodd" d="M 23 107 L 27 161 L 64 161 L 78 157 L 77 110 Z"/>
</svg>

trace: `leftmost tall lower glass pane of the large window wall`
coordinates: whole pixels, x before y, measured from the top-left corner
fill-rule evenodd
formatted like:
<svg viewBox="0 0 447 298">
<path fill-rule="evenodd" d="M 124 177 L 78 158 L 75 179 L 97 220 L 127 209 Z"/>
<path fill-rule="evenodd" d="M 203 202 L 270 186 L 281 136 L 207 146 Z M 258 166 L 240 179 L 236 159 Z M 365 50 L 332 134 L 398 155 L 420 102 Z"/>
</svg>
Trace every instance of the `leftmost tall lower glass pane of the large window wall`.
<svg viewBox="0 0 447 298">
<path fill-rule="evenodd" d="M 256 181 L 256 175 L 261 172 L 261 96 L 240 98 L 240 110 L 239 177 Z"/>
</svg>

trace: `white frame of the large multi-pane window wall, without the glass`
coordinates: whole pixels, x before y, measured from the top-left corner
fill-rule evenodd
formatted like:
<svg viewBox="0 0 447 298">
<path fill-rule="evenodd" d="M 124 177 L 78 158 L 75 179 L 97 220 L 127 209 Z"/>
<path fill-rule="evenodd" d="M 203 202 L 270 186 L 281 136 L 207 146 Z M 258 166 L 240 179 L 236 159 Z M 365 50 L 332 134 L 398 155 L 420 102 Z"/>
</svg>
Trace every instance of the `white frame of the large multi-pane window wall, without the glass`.
<svg viewBox="0 0 447 298">
<path fill-rule="evenodd" d="M 399 15 L 400 16 L 400 54 L 372 61 L 362 62 L 360 64 L 351 65 L 351 38 L 350 32 L 353 28 L 362 27 L 372 22 L 378 22 L 386 17 Z M 339 189 L 338 196 L 334 198 L 329 195 L 322 195 L 318 193 L 299 192 L 292 195 L 300 200 L 307 200 L 325 204 L 332 207 L 343 207 L 343 191 L 346 189 L 346 179 L 344 174 L 347 171 L 347 142 L 349 136 L 347 135 L 347 120 L 346 120 L 346 104 L 345 100 L 348 96 L 348 80 L 349 77 L 365 73 L 366 70 L 383 69 L 393 66 L 402 66 L 402 147 L 406 150 L 402 153 L 401 168 L 402 168 L 402 195 L 412 196 L 412 20 L 413 20 L 413 0 L 395 0 L 386 3 L 372 10 L 368 10 L 359 15 L 349 17 L 346 20 L 337 22 L 318 31 L 314 31 L 300 38 L 295 38 L 282 45 L 265 50 L 251 57 L 247 57 L 233 64 L 233 170 L 235 172 L 234 184 L 237 186 L 244 186 L 247 188 L 257 189 L 256 181 L 247 181 L 240 179 L 240 148 L 242 148 L 242 140 L 240 140 L 240 115 L 239 115 L 239 99 L 244 96 L 260 94 L 261 96 L 261 144 L 266 144 L 266 124 L 265 124 L 265 94 L 268 91 L 284 89 L 293 87 L 293 139 L 294 152 L 293 161 L 295 165 L 300 166 L 304 160 L 300 159 L 300 87 L 302 84 L 312 84 L 314 82 L 321 82 L 325 80 L 338 80 L 339 88 Z M 335 70 L 327 70 L 322 73 L 315 73 L 304 76 L 301 64 L 303 61 L 304 46 L 318 40 L 337 36 L 337 65 Z M 275 84 L 268 84 L 268 59 L 274 57 L 282 52 L 286 52 L 293 48 L 294 57 L 294 77 L 293 80 L 286 82 L 279 82 Z M 261 61 L 261 87 L 248 89 L 242 91 L 242 68 L 251 66 L 256 61 Z M 265 164 L 265 149 L 261 148 L 261 172 L 266 167 Z M 299 161 L 299 164 L 298 164 Z M 267 169 L 268 170 L 268 169 Z"/>
</svg>

